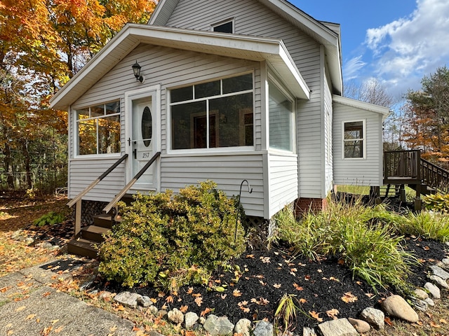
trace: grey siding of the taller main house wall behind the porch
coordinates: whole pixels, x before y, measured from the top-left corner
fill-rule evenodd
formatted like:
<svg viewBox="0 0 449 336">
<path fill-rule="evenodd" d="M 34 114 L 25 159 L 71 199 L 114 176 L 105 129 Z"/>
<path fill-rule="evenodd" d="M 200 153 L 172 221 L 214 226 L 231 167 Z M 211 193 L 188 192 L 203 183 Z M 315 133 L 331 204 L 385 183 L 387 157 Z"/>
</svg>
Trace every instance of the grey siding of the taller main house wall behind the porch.
<svg viewBox="0 0 449 336">
<path fill-rule="evenodd" d="M 167 25 L 210 30 L 211 25 L 229 18 L 234 18 L 235 34 L 282 38 L 312 91 L 309 101 L 297 104 L 298 188 L 300 197 L 325 197 L 323 190 L 328 189 L 330 181 L 323 182 L 325 134 L 321 116 L 321 57 L 324 56 L 321 56 L 319 43 L 256 0 L 221 0 L 212 3 L 208 0 L 180 0 Z"/>
</svg>

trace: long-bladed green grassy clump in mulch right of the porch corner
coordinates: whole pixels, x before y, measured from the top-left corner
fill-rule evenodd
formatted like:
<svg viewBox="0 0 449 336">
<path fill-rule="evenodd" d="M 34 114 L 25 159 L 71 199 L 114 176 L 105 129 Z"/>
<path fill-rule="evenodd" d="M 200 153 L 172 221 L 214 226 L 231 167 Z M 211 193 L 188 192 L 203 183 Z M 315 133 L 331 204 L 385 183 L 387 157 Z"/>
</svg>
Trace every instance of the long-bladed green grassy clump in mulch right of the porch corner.
<svg viewBox="0 0 449 336">
<path fill-rule="evenodd" d="M 273 240 L 285 241 L 312 260 L 328 255 L 341 258 L 375 290 L 387 286 L 406 290 L 410 265 L 417 259 L 403 250 L 403 237 L 395 235 L 396 225 L 403 220 L 382 204 L 329 202 L 324 211 L 306 214 L 300 221 L 287 209 L 281 211 Z"/>
</svg>

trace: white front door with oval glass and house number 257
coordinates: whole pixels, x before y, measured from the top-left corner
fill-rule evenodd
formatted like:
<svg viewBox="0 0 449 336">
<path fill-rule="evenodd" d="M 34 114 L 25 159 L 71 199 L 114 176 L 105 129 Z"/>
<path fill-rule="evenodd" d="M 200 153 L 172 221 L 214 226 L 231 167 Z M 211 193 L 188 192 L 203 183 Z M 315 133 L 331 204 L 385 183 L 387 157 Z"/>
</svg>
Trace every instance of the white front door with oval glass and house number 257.
<svg viewBox="0 0 449 336">
<path fill-rule="evenodd" d="M 142 95 L 144 97 L 142 97 Z M 128 158 L 130 165 L 128 181 L 133 179 L 147 162 L 153 158 L 158 148 L 158 135 L 156 132 L 156 94 L 137 94 L 130 96 L 128 104 L 131 105 L 130 116 L 128 117 Z M 157 190 L 158 186 L 158 161 L 154 162 L 135 182 L 131 190 Z"/>
</svg>

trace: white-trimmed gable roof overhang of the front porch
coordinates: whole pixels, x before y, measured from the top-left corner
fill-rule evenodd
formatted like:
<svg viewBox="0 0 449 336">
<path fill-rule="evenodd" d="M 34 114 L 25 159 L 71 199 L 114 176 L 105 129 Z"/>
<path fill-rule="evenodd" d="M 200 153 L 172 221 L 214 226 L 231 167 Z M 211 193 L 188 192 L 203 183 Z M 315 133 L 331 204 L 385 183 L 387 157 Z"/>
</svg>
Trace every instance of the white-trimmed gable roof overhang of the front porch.
<svg viewBox="0 0 449 336">
<path fill-rule="evenodd" d="M 51 107 L 67 109 L 140 43 L 259 62 L 267 61 L 297 98 L 310 97 L 309 87 L 288 54 L 286 46 L 279 39 L 128 24 L 52 97 Z"/>
</svg>

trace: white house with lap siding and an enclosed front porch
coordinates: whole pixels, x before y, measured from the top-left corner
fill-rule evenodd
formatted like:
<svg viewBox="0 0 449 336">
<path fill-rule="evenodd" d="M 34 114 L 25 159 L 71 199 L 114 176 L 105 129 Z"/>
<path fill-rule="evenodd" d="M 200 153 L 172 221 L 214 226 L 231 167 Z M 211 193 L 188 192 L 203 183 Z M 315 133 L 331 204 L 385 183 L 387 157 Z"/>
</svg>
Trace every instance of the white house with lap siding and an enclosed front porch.
<svg viewBox="0 0 449 336">
<path fill-rule="evenodd" d="M 83 196 L 110 202 L 158 152 L 128 193 L 211 179 L 231 196 L 246 179 L 257 218 L 319 208 L 335 183 L 382 185 L 388 109 L 342 97 L 340 26 L 285 0 L 160 0 L 51 107 L 69 111 L 69 198 L 128 154 Z"/>
</svg>

